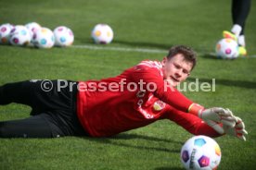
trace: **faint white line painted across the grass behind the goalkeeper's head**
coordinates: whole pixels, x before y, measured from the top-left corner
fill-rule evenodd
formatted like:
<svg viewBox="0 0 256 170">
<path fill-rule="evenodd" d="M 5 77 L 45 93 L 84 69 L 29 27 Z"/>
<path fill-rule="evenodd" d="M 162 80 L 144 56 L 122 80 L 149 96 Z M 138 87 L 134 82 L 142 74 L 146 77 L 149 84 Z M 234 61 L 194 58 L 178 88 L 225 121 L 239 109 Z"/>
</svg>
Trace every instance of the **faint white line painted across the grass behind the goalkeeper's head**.
<svg viewBox="0 0 256 170">
<path fill-rule="evenodd" d="M 109 50 L 109 51 L 119 51 L 119 52 L 139 52 L 139 53 L 149 53 L 149 54 L 168 54 L 167 50 L 158 49 L 148 49 L 148 48 L 126 48 L 126 47 L 109 47 L 109 46 L 94 46 L 94 45 L 72 45 L 73 48 L 84 48 L 89 50 Z M 215 53 L 204 54 L 198 53 L 198 55 L 213 55 Z M 249 55 L 248 57 L 256 57 L 256 55 Z"/>
</svg>

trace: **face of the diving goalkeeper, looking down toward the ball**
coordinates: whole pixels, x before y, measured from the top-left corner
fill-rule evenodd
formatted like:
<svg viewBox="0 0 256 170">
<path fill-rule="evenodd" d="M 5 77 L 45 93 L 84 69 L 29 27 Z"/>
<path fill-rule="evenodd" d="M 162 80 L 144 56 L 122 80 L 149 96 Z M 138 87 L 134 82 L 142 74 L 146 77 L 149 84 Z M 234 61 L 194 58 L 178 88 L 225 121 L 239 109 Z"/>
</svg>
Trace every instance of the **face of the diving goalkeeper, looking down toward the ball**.
<svg viewBox="0 0 256 170">
<path fill-rule="evenodd" d="M 177 54 L 171 59 L 164 57 L 162 62 L 163 79 L 173 87 L 184 81 L 190 74 L 193 64 L 185 60 L 184 55 Z"/>
</svg>

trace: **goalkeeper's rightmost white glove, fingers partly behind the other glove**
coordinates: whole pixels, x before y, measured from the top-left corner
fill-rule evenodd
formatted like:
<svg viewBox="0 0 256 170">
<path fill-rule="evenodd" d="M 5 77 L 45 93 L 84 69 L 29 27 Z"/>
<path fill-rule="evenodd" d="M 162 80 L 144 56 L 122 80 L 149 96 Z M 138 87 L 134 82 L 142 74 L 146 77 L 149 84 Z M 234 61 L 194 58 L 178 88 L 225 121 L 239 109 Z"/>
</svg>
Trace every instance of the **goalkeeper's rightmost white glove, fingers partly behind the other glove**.
<svg viewBox="0 0 256 170">
<path fill-rule="evenodd" d="M 246 140 L 245 135 L 248 134 L 248 132 L 245 129 L 245 124 L 240 117 L 237 117 L 237 116 L 234 116 L 234 117 L 237 119 L 235 127 L 231 128 L 230 126 L 223 124 L 224 133 L 230 136 L 235 136 L 239 140 L 245 141 Z"/>
</svg>

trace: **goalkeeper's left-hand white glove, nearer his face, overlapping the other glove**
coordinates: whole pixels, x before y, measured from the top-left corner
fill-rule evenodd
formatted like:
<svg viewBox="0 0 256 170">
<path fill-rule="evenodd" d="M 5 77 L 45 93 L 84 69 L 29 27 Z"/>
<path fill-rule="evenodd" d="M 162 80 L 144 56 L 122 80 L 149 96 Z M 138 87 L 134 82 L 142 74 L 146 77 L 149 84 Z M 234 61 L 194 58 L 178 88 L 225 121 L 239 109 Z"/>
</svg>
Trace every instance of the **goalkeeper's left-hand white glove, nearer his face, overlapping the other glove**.
<svg viewBox="0 0 256 170">
<path fill-rule="evenodd" d="M 198 116 L 211 126 L 213 124 L 223 123 L 227 127 L 234 128 L 237 122 L 236 116 L 234 116 L 229 109 L 222 107 L 202 110 L 198 113 Z"/>
</svg>

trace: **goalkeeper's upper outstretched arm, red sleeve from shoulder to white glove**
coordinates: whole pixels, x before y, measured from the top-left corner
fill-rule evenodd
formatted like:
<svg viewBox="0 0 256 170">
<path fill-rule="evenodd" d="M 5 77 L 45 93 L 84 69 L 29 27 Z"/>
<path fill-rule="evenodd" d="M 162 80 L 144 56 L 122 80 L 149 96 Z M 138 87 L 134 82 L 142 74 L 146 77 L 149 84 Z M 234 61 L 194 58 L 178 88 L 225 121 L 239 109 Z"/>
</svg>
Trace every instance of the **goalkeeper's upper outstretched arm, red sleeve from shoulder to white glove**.
<svg viewBox="0 0 256 170">
<path fill-rule="evenodd" d="M 134 67 L 133 74 L 130 74 L 132 75 L 133 81 L 140 82 L 141 80 L 143 80 L 143 82 L 145 82 L 144 88 L 147 87 L 148 84 L 153 83 L 154 85 L 156 85 L 156 89 L 155 91 L 153 91 L 155 96 L 157 96 L 164 103 L 168 103 L 174 108 L 183 111 L 184 113 L 188 112 L 192 115 L 197 115 L 205 122 L 212 121 L 214 125 L 218 125 L 218 123 L 225 123 L 226 125 L 234 128 L 236 120 L 234 116 L 232 116 L 231 111 L 221 107 L 204 109 L 204 107 L 198 105 L 197 103 L 193 103 L 179 91 L 176 91 L 170 86 L 166 86 L 167 84 L 160 76 L 160 69 L 154 64 L 157 65 L 154 62 L 149 62 L 147 64 L 141 64 Z M 213 124 L 210 125 L 213 126 Z M 212 128 L 218 127 L 213 126 Z M 222 128 L 220 128 L 219 131 L 221 131 L 221 129 Z M 221 132 L 222 133 L 220 134 L 223 134 L 223 131 Z"/>
</svg>

